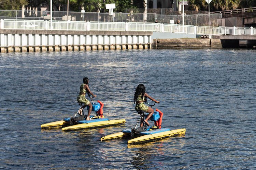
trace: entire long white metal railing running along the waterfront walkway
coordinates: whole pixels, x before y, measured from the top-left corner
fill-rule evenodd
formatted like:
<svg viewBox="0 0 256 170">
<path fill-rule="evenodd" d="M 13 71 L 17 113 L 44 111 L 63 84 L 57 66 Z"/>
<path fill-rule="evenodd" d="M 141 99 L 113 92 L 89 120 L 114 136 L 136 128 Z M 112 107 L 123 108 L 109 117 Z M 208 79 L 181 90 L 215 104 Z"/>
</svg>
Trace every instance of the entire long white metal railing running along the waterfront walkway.
<svg viewBox="0 0 256 170">
<path fill-rule="evenodd" d="M 204 27 L 146 22 L 83 22 L 0 20 L 0 29 L 11 30 L 72 30 L 72 31 L 152 31 L 199 35 L 256 35 L 256 28 Z"/>
</svg>

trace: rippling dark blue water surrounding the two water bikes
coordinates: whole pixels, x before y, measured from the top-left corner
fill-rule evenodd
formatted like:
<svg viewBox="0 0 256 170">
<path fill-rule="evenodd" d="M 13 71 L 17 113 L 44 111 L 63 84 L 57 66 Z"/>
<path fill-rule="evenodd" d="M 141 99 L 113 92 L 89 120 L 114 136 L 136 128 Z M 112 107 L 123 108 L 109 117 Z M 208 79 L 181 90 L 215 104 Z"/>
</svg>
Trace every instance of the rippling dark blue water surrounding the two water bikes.
<svg viewBox="0 0 256 170">
<path fill-rule="evenodd" d="M 241 49 L 1 53 L 0 168 L 256 168 L 255 68 L 256 51 Z M 83 77 L 105 117 L 126 123 L 41 130 L 76 112 Z M 162 127 L 186 134 L 144 145 L 101 142 L 138 120 L 140 83 L 160 101 Z"/>
</svg>

